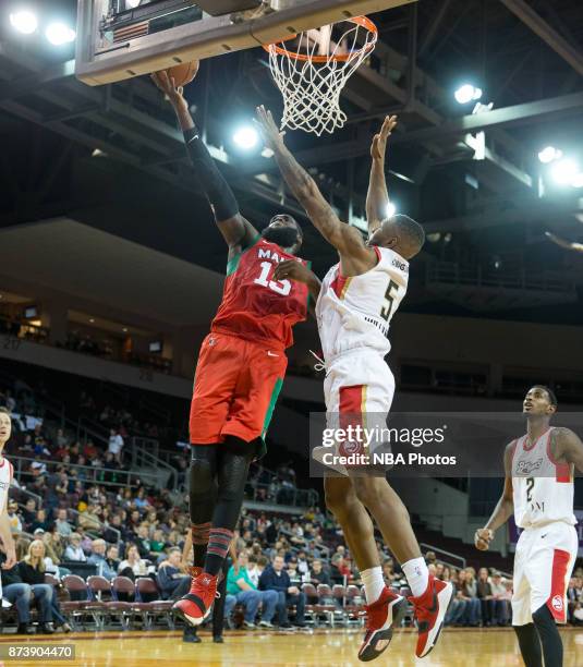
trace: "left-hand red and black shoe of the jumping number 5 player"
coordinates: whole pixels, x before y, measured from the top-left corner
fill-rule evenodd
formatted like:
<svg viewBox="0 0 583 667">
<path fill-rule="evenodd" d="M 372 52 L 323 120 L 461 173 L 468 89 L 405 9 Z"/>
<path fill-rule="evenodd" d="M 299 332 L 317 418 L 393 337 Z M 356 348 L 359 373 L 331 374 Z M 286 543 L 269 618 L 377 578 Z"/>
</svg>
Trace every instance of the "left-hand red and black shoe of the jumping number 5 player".
<svg viewBox="0 0 583 667">
<path fill-rule="evenodd" d="M 387 586 L 375 603 L 366 606 L 366 634 L 359 651 L 360 660 L 374 660 L 387 648 L 392 628 L 400 626 L 405 609 L 405 598 Z"/>
</svg>

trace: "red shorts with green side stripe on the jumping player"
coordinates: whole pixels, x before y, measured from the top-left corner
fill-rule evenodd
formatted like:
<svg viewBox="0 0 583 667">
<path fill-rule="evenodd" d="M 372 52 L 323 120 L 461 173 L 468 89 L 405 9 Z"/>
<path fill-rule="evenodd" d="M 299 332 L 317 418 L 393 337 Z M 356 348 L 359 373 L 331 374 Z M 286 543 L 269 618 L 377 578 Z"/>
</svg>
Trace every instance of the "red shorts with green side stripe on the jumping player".
<svg viewBox="0 0 583 667">
<path fill-rule="evenodd" d="M 226 333 L 205 338 L 191 403 L 192 444 L 265 438 L 288 366 L 286 353 L 268 345 Z"/>
</svg>

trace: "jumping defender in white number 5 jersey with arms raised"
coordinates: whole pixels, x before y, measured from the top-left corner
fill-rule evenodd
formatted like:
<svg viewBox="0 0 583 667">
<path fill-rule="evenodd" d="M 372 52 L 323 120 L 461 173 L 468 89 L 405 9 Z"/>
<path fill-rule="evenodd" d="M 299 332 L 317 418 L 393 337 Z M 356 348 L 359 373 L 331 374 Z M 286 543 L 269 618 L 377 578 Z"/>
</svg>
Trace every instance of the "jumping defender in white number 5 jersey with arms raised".
<svg viewBox="0 0 583 667">
<path fill-rule="evenodd" d="M 324 389 L 328 424 L 338 415 L 341 427 L 354 425 L 354 421 L 362 426 L 367 414 L 386 424 L 394 393 L 394 380 L 385 363 L 390 349 L 389 323 L 406 291 L 409 259 L 420 252 L 425 240 L 423 228 L 411 218 L 386 218 L 389 199 L 385 151 L 397 117 L 388 117 L 373 141 L 365 243 L 354 227 L 338 219 L 314 180 L 286 148 L 271 114 L 263 107 L 257 111 L 266 144 L 274 150 L 283 178 L 314 227 L 340 256 L 321 289 L 313 274 L 293 260 L 280 264 L 274 275 L 276 280 L 291 278 L 306 282 L 317 298 L 318 330 L 327 371 Z M 357 449 L 361 442 L 343 447 L 350 453 L 350 448 Z M 418 626 L 416 655 L 423 657 L 439 636 L 452 586 L 429 574 L 406 508 L 385 475 L 362 472 L 351 470 L 345 476 L 325 480 L 326 504 L 342 526 L 365 585 L 367 630 L 359 658 L 372 660 L 385 651 L 392 638 L 392 626 L 398 624 L 405 606 L 405 601 L 382 580 L 368 512 L 408 579 L 413 594 L 409 599 L 415 607 Z"/>
</svg>

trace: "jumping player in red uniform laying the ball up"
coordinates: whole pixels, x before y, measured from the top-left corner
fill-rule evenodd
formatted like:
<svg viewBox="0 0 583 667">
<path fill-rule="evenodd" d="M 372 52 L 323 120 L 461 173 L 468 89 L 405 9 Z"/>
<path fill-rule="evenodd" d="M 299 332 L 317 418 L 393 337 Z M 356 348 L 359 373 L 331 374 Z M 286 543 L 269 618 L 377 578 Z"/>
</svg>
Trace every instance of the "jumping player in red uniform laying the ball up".
<svg viewBox="0 0 583 667">
<path fill-rule="evenodd" d="M 296 259 L 302 244 L 297 222 L 277 215 L 259 234 L 239 213 L 233 193 L 199 138 L 182 90 L 166 72 L 153 78 L 174 108 L 197 180 L 229 246 L 222 302 L 201 348 L 190 417 L 191 530 L 194 566 L 203 571 L 174 606 L 187 622 L 198 626 L 216 595 L 250 462 L 263 451 L 286 374 L 284 350 L 293 342 L 292 326 L 307 315 L 308 287 L 274 279 L 279 262 Z"/>
</svg>

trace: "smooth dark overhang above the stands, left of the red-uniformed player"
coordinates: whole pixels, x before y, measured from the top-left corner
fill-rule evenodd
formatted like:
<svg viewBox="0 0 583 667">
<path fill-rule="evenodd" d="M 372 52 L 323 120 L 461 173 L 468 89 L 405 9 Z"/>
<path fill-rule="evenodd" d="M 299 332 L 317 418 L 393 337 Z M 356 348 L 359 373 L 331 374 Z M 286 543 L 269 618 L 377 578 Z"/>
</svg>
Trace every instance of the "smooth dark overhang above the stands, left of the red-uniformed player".
<svg viewBox="0 0 583 667">
<path fill-rule="evenodd" d="M 206 325 L 222 292 L 220 274 L 70 218 L 4 227 L 0 248 L 0 283 L 27 286 L 36 299 L 59 293 L 154 331 Z"/>
</svg>

